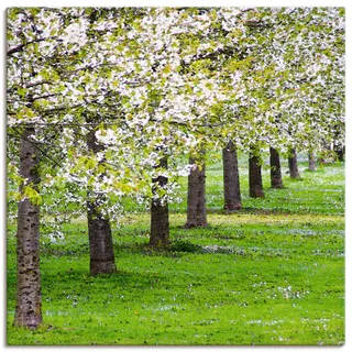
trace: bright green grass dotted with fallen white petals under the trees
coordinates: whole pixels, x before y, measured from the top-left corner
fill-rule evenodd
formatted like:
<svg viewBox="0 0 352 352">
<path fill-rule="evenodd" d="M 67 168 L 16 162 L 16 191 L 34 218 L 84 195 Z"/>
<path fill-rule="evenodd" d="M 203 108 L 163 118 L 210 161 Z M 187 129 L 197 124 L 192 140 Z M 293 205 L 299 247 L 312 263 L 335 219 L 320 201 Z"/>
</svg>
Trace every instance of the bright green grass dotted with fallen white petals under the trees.
<svg viewBox="0 0 352 352">
<path fill-rule="evenodd" d="M 222 211 L 222 169 L 207 169 L 206 229 L 185 230 L 185 201 L 172 205 L 169 251 L 147 248 L 148 215 L 113 229 L 113 275 L 90 277 L 87 227 L 65 226 L 65 239 L 42 235 L 44 324 L 14 328 L 15 241 L 8 234 L 9 344 L 343 344 L 344 166 L 333 164 L 243 209 Z M 185 194 L 186 180 L 179 190 Z M 185 198 L 185 196 L 184 196 Z"/>
</svg>

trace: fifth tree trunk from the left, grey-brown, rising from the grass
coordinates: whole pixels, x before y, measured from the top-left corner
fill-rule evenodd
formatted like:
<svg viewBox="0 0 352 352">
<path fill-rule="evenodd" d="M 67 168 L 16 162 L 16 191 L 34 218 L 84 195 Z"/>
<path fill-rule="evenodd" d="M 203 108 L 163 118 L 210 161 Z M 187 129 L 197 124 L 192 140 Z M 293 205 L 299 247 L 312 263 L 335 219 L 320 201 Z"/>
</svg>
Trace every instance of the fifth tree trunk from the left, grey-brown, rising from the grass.
<svg viewBox="0 0 352 352">
<path fill-rule="evenodd" d="M 232 141 L 222 150 L 223 161 L 223 208 L 228 211 L 242 208 L 238 153 Z"/>
</svg>

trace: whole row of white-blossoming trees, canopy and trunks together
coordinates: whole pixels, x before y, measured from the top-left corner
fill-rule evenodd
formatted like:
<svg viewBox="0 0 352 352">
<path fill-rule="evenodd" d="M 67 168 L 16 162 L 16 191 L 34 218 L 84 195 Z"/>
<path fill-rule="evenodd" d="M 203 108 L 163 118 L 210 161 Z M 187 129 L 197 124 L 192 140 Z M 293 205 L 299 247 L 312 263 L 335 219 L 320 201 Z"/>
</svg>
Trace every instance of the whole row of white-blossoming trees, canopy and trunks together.
<svg viewBox="0 0 352 352">
<path fill-rule="evenodd" d="M 18 326 L 42 321 L 41 213 L 87 212 L 90 272 L 113 272 L 123 197 L 152 205 L 151 244 L 165 245 L 167 180 L 189 175 L 186 226 L 204 223 L 190 195 L 204 187 L 207 150 L 224 148 L 224 163 L 249 152 L 257 175 L 267 145 L 343 146 L 342 8 L 12 8 L 7 35 Z M 261 196 L 258 177 L 250 184 Z"/>
</svg>

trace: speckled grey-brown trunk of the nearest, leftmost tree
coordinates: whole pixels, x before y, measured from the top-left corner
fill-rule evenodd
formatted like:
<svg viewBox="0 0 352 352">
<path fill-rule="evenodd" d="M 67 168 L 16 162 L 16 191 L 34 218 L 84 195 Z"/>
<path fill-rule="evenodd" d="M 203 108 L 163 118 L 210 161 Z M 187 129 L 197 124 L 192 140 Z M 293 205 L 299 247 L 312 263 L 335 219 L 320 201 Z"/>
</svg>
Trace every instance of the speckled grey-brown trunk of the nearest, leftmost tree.
<svg viewBox="0 0 352 352">
<path fill-rule="evenodd" d="M 20 176 L 36 191 L 40 183 L 40 152 L 34 128 L 25 128 L 20 151 Z M 23 197 L 24 185 L 20 186 Z M 14 324 L 36 329 L 42 322 L 40 272 L 40 206 L 23 197 L 19 202 L 16 232 L 18 286 Z"/>
</svg>

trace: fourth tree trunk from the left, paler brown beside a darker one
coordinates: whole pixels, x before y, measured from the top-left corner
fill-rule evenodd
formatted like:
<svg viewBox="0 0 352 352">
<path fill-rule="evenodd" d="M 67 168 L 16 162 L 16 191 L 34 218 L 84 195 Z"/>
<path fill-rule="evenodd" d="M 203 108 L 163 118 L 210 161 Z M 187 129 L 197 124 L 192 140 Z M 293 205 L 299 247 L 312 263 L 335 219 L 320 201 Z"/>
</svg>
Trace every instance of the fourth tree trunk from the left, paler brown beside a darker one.
<svg viewBox="0 0 352 352">
<path fill-rule="evenodd" d="M 187 222 L 186 229 L 205 228 L 207 223 L 206 212 L 206 164 L 201 168 L 196 164 L 194 158 L 189 158 L 193 165 L 188 176 L 187 194 Z"/>
</svg>

